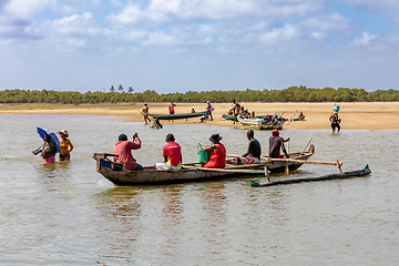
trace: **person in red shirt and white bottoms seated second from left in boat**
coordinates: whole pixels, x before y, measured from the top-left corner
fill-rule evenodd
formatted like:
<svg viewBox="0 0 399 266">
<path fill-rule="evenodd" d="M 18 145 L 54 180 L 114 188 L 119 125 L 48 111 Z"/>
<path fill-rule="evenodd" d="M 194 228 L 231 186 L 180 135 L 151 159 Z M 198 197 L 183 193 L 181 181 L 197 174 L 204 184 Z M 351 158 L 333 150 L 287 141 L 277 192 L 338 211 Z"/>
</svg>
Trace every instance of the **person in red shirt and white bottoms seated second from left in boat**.
<svg viewBox="0 0 399 266">
<path fill-rule="evenodd" d="M 162 150 L 163 163 L 156 163 L 155 168 L 157 171 L 171 171 L 178 172 L 182 168 L 182 149 L 175 142 L 173 134 L 167 134 L 165 141 L 167 144 Z"/>
</svg>

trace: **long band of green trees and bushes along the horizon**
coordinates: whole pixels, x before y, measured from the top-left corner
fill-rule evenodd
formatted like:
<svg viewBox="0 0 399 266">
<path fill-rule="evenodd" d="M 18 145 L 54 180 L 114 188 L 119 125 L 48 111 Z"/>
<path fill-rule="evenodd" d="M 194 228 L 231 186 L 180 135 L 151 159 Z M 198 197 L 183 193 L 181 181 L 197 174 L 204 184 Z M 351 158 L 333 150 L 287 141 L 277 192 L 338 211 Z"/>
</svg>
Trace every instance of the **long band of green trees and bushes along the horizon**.
<svg viewBox="0 0 399 266">
<path fill-rule="evenodd" d="M 378 90 L 367 92 L 364 89 L 325 88 L 307 89 L 290 86 L 284 90 L 245 90 L 245 91 L 187 91 L 185 93 L 158 94 L 155 91 L 127 92 L 122 85 L 110 92 L 71 92 L 71 91 L 0 91 L 0 103 L 126 103 L 126 102 L 231 102 L 232 99 L 245 102 L 396 102 L 398 90 Z"/>
</svg>

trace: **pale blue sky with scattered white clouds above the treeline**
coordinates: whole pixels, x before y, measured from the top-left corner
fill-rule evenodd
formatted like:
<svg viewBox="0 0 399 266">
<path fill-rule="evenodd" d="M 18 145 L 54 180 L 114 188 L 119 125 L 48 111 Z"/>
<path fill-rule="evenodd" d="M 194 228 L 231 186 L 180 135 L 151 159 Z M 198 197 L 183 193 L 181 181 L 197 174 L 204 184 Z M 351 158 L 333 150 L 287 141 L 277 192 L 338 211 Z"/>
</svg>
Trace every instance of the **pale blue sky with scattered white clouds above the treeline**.
<svg viewBox="0 0 399 266">
<path fill-rule="evenodd" d="M 0 0 L 0 90 L 399 89 L 399 0 Z"/>
</svg>

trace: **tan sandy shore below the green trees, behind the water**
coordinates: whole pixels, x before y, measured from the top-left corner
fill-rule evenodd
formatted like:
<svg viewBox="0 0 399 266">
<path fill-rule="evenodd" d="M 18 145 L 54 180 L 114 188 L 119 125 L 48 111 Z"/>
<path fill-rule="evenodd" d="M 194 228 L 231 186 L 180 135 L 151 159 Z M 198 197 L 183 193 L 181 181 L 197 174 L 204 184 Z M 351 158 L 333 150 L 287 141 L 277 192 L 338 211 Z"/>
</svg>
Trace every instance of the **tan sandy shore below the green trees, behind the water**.
<svg viewBox="0 0 399 266">
<path fill-rule="evenodd" d="M 175 103 L 176 113 L 190 113 L 195 111 L 205 111 L 206 103 Z M 316 130 L 330 129 L 328 117 L 332 113 L 334 103 L 246 103 L 242 105 L 250 112 L 255 111 L 257 115 L 283 113 L 286 119 L 293 117 L 297 111 L 306 115 L 305 122 L 285 123 L 285 129 L 295 130 Z M 231 103 L 214 103 L 214 121 L 206 121 L 207 125 L 233 126 L 232 121 L 222 119 L 231 108 Z M 149 103 L 150 113 L 166 114 L 168 103 Z M 399 129 L 399 102 L 371 102 L 371 103 L 339 103 L 339 116 L 342 129 L 366 129 L 366 130 L 391 130 Z M 82 104 L 82 105 L 63 105 L 63 104 L 0 104 L 0 114 L 88 114 L 88 115 L 120 115 L 120 120 L 129 122 L 143 121 L 142 115 L 137 112 L 143 105 L 141 103 L 127 104 Z M 178 120 L 168 123 L 200 123 L 198 119 L 188 121 Z"/>
</svg>

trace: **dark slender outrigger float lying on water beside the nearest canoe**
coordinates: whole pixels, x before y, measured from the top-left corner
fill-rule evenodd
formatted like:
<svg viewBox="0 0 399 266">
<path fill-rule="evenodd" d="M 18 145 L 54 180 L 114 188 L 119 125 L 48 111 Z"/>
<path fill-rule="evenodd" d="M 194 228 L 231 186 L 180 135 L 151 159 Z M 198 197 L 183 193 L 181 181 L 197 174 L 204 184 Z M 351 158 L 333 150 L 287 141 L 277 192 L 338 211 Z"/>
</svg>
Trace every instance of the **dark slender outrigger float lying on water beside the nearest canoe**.
<svg viewBox="0 0 399 266">
<path fill-rule="evenodd" d="M 250 186 L 259 187 L 259 186 L 274 186 L 274 185 L 286 185 L 286 184 L 296 184 L 303 182 L 316 182 L 316 181 L 328 181 L 328 180 L 345 180 L 350 177 L 359 177 L 367 176 L 371 174 L 371 170 L 368 164 L 362 170 L 342 172 L 337 174 L 323 175 L 318 177 L 307 177 L 307 178 L 295 178 L 295 180 L 284 180 L 284 181 L 275 181 L 265 184 L 259 184 L 254 181 L 250 181 Z"/>
</svg>

